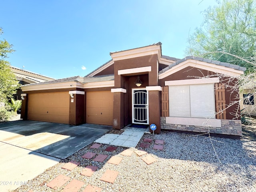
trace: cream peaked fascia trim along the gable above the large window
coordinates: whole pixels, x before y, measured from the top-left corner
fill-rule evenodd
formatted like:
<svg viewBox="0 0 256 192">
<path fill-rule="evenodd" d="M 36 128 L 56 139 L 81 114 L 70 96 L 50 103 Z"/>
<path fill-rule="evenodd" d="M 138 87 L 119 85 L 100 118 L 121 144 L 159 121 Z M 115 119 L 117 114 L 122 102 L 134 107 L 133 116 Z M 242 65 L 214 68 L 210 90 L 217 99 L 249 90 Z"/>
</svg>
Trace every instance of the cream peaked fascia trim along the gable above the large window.
<svg viewBox="0 0 256 192">
<path fill-rule="evenodd" d="M 189 60 L 186 60 L 176 66 L 173 66 L 166 72 L 159 74 L 158 78 L 159 79 L 166 78 L 167 76 L 170 76 L 171 74 L 174 74 L 186 67 L 200 68 L 203 70 L 215 72 L 217 74 L 225 74 L 227 76 L 240 76 L 241 74 L 244 74 L 243 71 L 235 70 L 235 69 L 228 68 L 225 66 L 220 66 L 220 65 L 216 65 L 216 64 L 211 64 L 211 63 L 206 63 L 206 62 L 202 62 L 202 61 L 198 61 L 198 60 L 189 59 Z"/>
</svg>

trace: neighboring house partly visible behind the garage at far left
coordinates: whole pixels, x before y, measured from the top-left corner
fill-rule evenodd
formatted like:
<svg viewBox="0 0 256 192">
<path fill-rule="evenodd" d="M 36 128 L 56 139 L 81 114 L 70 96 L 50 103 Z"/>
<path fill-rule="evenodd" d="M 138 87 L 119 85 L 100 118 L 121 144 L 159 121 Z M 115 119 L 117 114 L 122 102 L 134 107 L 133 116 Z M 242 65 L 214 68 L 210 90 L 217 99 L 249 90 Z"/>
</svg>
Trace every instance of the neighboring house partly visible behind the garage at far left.
<svg viewBox="0 0 256 192">
<path fill-rule="evenodd" d="M 20 69 L 20 68 L 14 67 L 14 66 L 10 66 L 10 68 L 11 68 L 11 71 L 15 74 L 16 80 L 18 80 L 19 84 L 21 84 L 21 85 L 54 80 L 53 78 L 46 77 L 46 76 L 43 76 L 40 74 L 36 74 L 34 72 L 30 72 L 30 71 Z M 21 89 L 18 89 L 16 94 L 14 95 L 14 98 L 16 100 L 21 100 L 20 94 L 22 94 L 22 91 L 21 91 Z"/>
</svg>

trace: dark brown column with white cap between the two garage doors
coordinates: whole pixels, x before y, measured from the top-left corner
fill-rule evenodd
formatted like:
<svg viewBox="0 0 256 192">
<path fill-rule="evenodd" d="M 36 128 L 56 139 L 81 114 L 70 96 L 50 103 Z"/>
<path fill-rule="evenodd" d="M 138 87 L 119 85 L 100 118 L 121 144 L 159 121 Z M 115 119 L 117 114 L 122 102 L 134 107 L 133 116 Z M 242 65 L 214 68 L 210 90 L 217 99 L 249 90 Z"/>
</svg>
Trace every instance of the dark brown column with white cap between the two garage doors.
<svg viewBox="0 0 256 192">
<path fill-rule="evenodd" d="M 70 91 L 69 124 L 78 125 L 84 122 L 84 91 Z"/>
</svg>

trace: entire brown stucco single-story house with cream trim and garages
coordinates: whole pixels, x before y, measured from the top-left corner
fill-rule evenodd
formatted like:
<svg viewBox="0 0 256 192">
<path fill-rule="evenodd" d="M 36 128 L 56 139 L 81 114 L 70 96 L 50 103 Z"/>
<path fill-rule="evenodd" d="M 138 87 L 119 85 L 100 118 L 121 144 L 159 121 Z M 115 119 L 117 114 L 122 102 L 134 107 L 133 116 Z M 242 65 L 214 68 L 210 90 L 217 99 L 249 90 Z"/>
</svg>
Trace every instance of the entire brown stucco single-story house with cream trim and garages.
<svg viewBox="0 0 256 192">
<path fill-rule="evenodd" d="M 163 56 L 161 45 L 111 52 L 112 60 L 84 78 L 22 86 L 22 118 L 116 129 L 156 124 L 156 133 L 204 133 L 209 128 L 211 133 L 241 136 L 241 121 L 233 115 L 238 104 L 216 113 L 237 100 L 224 87 L 228 76 L 240 76 L 246 68 L 194 56 Z"/>
</svg>

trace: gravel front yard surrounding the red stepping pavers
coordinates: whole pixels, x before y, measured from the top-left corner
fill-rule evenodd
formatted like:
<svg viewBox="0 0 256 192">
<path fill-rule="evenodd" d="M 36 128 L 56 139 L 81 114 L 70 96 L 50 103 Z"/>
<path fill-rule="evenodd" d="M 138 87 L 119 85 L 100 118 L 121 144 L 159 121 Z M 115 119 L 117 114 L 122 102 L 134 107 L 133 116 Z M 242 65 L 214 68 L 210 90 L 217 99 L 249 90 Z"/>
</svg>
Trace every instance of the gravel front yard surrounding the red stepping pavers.
<svg viewBox="0 0 256 192">
<path fill-rule="evenodd" d="M 248 127 L 250 129 L 250 127 Z M 244 132 L 247 133 L 247 127 Z M 255 131 L 255 128 L 251 130 Z M 112 130 L 112 134 L 122 131 Z M 82 192 L 88 184 L 102 188 L 102 192 L 254 192 L 256 191 L 256 139 L 252 134 L 245 134 L 241 140 L 212 138 L 214 152 L 209 138 L 162 131 L 160 134 L 144 134 L 136 148 L 129 150 L 145 150 L 148 154 L 139 157 L 135 152 L 131 156 L 120 154 L 126 147 L 114 152 L 105 151 L 110 146 L 102 144 L 100 148 L 90 148 L 92 144 L 69 156 L 56 166 L 49 168 L 15 192 L 59 192 L 64 186 L 54 190 L 47 183 L 62 174 L 85 184 L 78 192 Z M 144 138 L 152 138 L 149 148 L 141 148 Z M 154 141 L 164 140 L 163 150 L 154 150 Z M 216 141 L 215 141 L 216 140 Z M 108 155 L 104 162 L 84 159 L 86 152 Z M 151 155 L 156 162 L 147 165 L 142 158 Z M 119 165 L 107 163 L 111 156 L 122 157 Z M 81 162 L 73 170 L 62 169 L 71 160 Z M 98 166 L 91 177 L 80 173 L 87 165 Z M 118 171 L 114 183 L 100 180 L 106 170 Z"/>
</svg>

